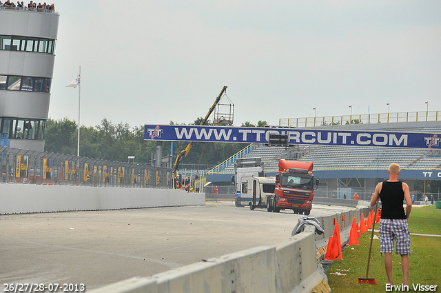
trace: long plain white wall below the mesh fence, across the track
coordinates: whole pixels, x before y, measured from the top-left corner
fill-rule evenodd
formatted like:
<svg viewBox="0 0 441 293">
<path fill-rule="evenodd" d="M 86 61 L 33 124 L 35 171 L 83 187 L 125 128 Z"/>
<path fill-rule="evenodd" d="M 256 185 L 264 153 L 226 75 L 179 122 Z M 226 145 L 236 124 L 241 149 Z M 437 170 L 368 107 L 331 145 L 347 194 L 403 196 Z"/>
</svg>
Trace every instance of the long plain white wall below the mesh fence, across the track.
<svg viewBox="0 0 441 293">
<path fill-rule="evenodd" d="M 0 185 L 0 214 L 205 205 L 204 193 L 148 188 Z"/>
</svg>

